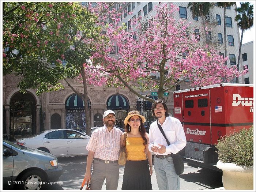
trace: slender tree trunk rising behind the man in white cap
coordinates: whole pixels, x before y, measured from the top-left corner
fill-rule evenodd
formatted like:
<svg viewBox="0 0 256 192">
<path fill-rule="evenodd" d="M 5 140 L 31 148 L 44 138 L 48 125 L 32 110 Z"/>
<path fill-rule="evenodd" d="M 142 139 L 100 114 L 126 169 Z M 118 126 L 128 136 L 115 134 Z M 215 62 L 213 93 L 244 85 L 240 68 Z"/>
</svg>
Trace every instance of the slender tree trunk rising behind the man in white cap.
<svg viewBox="0 0 256 192">
<path fill-rule="evenodd" d="M 87 92 L 87 84 L 86 84 L 86 75 L 84 72 L 84 66 L 81 64 L 81 75 L 83 78 L 83 89 L 84 89 L 84 111 L 85 111 L 85 123 L 86 123 L 86 135 L 91 136 L 91 121 L 90 121 L 90 113 L 88 106 L 88 92 Z"/>
</svg>

